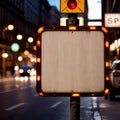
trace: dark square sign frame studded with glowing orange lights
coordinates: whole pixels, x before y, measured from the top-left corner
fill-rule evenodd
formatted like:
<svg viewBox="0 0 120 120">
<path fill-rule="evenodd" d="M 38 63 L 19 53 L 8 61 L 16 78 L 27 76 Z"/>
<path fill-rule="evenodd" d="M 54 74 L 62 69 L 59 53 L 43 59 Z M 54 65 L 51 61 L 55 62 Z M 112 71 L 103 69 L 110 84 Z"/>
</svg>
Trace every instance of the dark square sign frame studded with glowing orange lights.
<svg viewBox="0 0 120 120">
<path fill-rule="evenodd" d="M 104 34 L 104 91 L 101 92 L 44 92 L 42 90 L 42 64 L 41 64 L 41 46 L 42 38 L 41 35 L 45 31 L 101 31 Z M 109 40 L 108 40 L 108 30 L 105 27 L 76 27 L 76 26 L 59 26 L 59 27 L 40 27 L 38 29 L 38 39 L 37 39 L 37 79 L 36 79 L 36 90 L 40 96 L 72 96 L 73 94 L 78 94 L 79 96 L 103 96 L 105 90 L 109 87 Z"/>
</svg>

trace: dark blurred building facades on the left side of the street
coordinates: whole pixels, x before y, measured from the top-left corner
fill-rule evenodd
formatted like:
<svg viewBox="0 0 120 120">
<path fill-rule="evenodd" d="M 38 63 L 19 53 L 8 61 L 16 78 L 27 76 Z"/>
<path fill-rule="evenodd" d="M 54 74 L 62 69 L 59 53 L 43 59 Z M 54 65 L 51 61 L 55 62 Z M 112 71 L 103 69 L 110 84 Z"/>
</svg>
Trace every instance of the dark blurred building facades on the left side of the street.
<svg viewBox="0 0 120 120">
<path fill-rule="evenodd" d="M 17 63 L 17 57 L 28 50 L 35 55 L 37 29 L 40 26 L 59 26 L 60 14 L 53 9 L 47 0 L 0 0 L 0 68 L 6 71 L 9 66 Z M 14 29 L 9 30 L 8 25 Z M 22 35 L 18 40 L 17 35 Z M 33 42 L 28 42 L 31 37 Z M 13 42 L 20 44 L 20 51 L 13 52 L 10 46 Z M 2 54 L 8 56 L 3 58 Z"/>
</svg>

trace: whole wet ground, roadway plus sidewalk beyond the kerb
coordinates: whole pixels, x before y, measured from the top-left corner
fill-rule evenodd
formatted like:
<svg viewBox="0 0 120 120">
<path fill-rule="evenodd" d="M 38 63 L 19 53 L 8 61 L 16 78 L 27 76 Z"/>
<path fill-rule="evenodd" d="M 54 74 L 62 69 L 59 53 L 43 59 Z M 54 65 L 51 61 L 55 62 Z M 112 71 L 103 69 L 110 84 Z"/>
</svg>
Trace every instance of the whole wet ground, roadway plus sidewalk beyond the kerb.
<svg viewBox="0 0 120 120">
<path fill-rule="evenodd" d="M 0 80 L 1 120 L 70 120 L 69 97 L 40 97 L 35 78 Z M 119 120 L 119 100 L 81 97 L 80 120 Z"/>
</svg>

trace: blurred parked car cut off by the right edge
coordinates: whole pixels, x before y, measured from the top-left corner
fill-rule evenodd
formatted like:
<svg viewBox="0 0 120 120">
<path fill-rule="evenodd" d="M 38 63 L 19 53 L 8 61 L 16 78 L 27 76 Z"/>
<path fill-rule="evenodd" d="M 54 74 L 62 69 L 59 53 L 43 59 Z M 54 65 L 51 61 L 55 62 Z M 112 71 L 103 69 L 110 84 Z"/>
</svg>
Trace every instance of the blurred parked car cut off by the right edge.
<svg viewBox="0 0 120 120">
<path fill-rule="evenodd" d="M 115 95 L 120 95 L 120 60 L 113 61 L 110 69 L 110 100 L 115 99 Z"/>
</svg>

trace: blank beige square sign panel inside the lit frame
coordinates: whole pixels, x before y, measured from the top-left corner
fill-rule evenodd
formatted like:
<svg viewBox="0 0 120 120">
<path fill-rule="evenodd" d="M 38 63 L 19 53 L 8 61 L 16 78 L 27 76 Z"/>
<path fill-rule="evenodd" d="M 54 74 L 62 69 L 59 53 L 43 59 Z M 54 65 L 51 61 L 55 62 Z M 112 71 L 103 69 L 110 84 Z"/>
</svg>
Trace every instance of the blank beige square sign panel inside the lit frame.
<svg viewBox="0 0 120 120">
<path fill-rule="evenodd" d="M 43 93 L 104 91 L 103 31 L 47 30 L 41 33 L 40 40 Z"/>
</svg>

